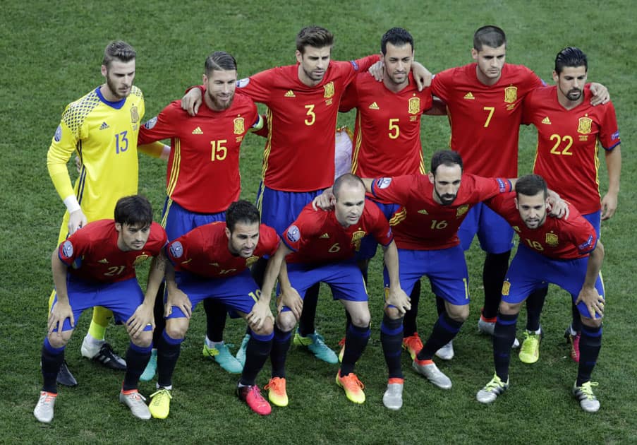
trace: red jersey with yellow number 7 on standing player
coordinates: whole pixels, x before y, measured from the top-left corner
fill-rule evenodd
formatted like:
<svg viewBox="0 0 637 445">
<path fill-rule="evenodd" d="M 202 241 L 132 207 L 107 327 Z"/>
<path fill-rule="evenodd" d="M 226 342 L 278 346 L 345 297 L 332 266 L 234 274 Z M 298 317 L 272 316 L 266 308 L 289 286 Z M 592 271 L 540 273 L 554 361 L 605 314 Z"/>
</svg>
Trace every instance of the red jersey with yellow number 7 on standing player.
<svg viewBox="0 0 637 445">
<path fill-rule="evenodd" d="M 460 153 L 468 173 L 517 177 L 522 100 L 542 80 L 526 66 L 504 64 L 499 81 L 485 85 L 476 66 L 447 69 L 432 80 L 432 93 L 447 103 L 449 147 Z"/>
</svg>

